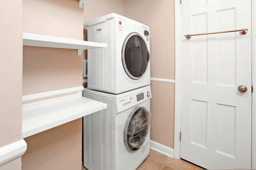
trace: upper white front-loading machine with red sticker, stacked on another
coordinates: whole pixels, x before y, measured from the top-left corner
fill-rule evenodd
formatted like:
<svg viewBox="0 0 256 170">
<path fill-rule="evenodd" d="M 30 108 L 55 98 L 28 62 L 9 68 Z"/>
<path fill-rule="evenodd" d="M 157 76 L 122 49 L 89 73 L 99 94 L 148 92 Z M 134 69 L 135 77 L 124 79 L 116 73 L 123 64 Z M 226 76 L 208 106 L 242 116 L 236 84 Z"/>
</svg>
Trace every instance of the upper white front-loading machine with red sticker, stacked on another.
<svg viewBox="0 0 256 170">
<path fill-rule="evenodd" d="M 150 84 L 148 26 L 112 13 L 84 27 L 88 41 L 108 44 L 88 50 L 88 89 L 119 94 Z"/>
</svg>

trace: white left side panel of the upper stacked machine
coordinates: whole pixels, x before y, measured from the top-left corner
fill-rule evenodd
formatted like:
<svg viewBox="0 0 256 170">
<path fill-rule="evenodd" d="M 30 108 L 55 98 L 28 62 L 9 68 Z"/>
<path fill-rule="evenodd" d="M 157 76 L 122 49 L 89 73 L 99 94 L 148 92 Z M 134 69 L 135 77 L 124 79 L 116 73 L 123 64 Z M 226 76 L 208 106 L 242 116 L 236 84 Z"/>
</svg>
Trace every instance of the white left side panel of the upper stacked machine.
<svg viewBox="0 0 256 170">
<path fill-rule="evenodd" d="M 115 22 L 114 18 L 88 27 L 88 41 L 107 43 L 107 48 L 88 50 L 88 88 L 111 92 L 116 88 L 115 78 Z"/>
</svg>

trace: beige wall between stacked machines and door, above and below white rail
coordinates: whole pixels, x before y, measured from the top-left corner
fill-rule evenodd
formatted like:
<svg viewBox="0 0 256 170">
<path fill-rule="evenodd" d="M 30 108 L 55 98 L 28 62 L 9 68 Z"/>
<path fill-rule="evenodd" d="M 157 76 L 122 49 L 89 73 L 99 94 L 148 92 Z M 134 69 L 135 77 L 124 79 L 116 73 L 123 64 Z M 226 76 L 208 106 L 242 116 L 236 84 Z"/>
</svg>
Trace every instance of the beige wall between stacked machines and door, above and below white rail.
<svg viewBox="0 0 256 170">
<path fill-rule="evenodd" d="M 124 16 L 150 27 L 151 77 L 174 80 L 174 0 L 124 0 Z M 174 148 L 174 84 L 151 86 L 151 140 Z"/>
</svg>

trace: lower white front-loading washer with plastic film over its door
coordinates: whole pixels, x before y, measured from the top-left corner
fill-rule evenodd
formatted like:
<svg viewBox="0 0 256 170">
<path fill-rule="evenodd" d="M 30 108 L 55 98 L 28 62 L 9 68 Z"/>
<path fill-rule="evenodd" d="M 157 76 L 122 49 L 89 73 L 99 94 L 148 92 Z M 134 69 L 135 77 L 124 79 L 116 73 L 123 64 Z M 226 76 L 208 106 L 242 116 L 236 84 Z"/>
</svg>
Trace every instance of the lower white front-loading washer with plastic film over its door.
<svg viewBox="0 0 256 170">
<path fill-rule="evenodd" d="M 83 95 L 108 104 L 84 117 L 84 167 L 138 168 L 150 152 L 150 86 L 116 95 L 84 89 Z"/>
</svg>

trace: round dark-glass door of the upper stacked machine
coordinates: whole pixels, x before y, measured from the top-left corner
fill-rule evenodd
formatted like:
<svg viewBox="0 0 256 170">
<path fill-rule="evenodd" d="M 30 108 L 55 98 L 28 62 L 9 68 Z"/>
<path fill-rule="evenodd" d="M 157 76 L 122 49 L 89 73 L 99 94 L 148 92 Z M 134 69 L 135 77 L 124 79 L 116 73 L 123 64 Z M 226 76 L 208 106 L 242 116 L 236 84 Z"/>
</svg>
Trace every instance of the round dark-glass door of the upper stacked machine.
<svg viewBox="0 0 256 170">
<path fill-rule="evenodd" d="M 146 42 L 138 33 L 129 34 L 122 48 L 122 63 L 126 74 L 134 79 L 140 79 L 147 69 L 149 52 Z"/>
</svg>

